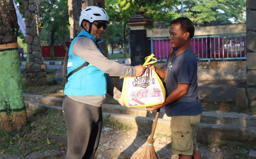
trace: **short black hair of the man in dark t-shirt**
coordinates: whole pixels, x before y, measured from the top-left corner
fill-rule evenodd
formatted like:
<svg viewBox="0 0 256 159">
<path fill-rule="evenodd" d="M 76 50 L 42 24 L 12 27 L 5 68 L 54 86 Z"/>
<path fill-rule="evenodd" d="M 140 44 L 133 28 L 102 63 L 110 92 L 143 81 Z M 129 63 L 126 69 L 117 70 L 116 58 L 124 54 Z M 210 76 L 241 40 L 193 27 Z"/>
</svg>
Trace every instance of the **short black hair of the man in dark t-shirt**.
<svg viewBox="0 0 256 159">
<path fill-rule="evenodd" d="M 177 18 L 177 19 L 174 19 L 172 22 L 171 22 L 171 26 L 172 24 L 181 24 L 181 30 L 186 33 L 186 32 L 189 32 L 189 38 L 192 39 L 194 34 L 195 34 L 195 27 L 192 23 L 192 21 L 187 18 L 187 17 L 180 17 L 180 18 Z"/>
</svg>

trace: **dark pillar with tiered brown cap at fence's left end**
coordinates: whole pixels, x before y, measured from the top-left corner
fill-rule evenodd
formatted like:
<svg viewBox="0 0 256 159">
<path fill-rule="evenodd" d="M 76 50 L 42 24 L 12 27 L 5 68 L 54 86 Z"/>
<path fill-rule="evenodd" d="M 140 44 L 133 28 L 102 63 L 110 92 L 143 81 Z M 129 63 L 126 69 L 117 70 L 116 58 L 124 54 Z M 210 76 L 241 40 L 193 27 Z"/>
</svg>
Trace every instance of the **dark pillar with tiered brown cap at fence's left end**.
<svg viewBox="0 0 256 159">
<path fill-rule="evenodd" d="M 147 27 L 152 20 L 143 15 L 144 12 L 137 11 L 135 16 L 129 18 L 127 24 L 131 26 L 131 65 L 142 65 L 145 57 L 150 56 L 150 41 L 147 39 Z"/>
</svg>

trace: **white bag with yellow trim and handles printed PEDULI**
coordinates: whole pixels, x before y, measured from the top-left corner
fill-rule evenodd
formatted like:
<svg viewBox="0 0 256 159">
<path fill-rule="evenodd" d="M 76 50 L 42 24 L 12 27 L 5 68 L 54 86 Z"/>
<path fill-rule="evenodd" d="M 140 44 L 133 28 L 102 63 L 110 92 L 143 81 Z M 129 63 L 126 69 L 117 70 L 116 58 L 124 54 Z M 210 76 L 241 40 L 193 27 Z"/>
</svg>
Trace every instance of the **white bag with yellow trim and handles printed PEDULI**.
<svg viewBox="0 0 256 159">
<path fill-rule="evenodd" d="M 127 107 L 149 107 L 165 102 L 165 88 L 157 73 L 147 65 L 157 62 L 154 54 L 145 58 L 146 71 L 139 77 L 124 77 L 122 100 Z M 150 61 L 153 59 L 154 61 Z"/>
</svg>

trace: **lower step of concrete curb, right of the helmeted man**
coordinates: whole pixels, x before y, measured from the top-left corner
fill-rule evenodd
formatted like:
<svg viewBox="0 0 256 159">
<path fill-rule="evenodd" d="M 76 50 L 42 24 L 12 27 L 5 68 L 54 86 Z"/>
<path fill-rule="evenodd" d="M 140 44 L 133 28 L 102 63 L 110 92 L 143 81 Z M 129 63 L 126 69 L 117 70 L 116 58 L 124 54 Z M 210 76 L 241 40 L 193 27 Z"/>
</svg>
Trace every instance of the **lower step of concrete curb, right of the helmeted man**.
<svg viewBox="0 0 256 159">
<path fill-rule="evenodd" d="M 110 116 L 109 116 L 110 115 Z M 103 113 L 104 118 L 110 121 L 118 121 L 127 124 L 133 128 L 138 128 L 151 132 L 154 118 L 138 117 L 124 114 Z M 170 120 L 159 118 L 155 133 L 170 135 Z M 199 141 L 236 141 L 249 145 L 256 142 L 256 127 L 245 126 L 227 126 L 218 124 L 199 123 L 197 130 L 197 139 Z"/>
</svg>

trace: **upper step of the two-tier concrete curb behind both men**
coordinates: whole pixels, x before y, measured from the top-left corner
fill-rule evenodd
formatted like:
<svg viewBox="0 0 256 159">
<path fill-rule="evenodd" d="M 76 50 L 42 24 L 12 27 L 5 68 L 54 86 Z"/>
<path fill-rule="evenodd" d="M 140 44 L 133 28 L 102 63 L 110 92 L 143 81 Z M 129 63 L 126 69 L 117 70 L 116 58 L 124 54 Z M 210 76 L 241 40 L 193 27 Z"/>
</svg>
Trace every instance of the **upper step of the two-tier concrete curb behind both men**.
<svg viewBox="0 0 256 159">
<path fill-rule="evenodd" d="M 23 94 L 25 101 L 42 103 L 45 105 L 62 106 L 62 98 L 54 98 L 50 96 Z M 102 111 L 115 114 L 133 115 L 139 117 L 155 117 L 155 112 L 150 113 L 146 108 L 127 108 L 120 105 L 102 104 Z M 171 117 L 166 116 L 165 109 L 160 110 L 159 118 L 170 120 Z M 220 111 L 203 111 L 201 123 L 230 125 L 230 126 L 256 126 L 256 116 L 250 116 L 245 113 L 230 113 Z"/>
</svg>

